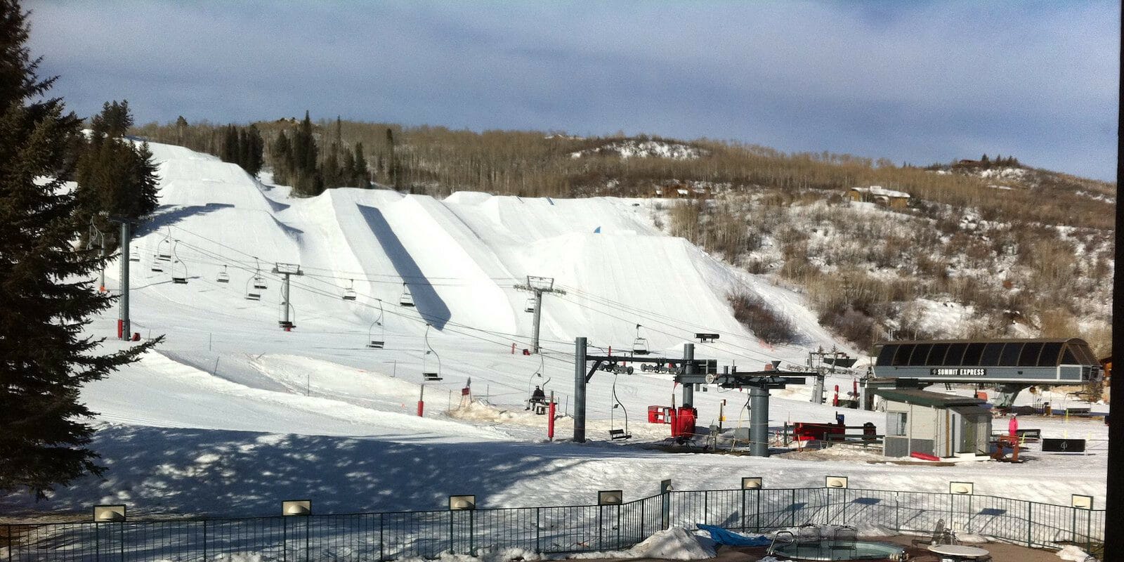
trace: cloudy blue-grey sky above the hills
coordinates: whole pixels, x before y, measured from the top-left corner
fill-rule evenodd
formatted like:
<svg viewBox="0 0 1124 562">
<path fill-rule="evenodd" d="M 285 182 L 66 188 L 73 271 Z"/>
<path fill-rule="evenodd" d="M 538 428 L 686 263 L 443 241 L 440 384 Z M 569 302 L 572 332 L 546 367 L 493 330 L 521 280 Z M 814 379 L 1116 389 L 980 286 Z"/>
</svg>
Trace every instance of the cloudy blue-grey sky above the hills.
<svg viewBox="0 0 1124 562">
<path fill-rule="evenodd" d="M 1117 2 L 27 1 L 79 115 L 710 137 L 1115 179 Z"/>
</svg>

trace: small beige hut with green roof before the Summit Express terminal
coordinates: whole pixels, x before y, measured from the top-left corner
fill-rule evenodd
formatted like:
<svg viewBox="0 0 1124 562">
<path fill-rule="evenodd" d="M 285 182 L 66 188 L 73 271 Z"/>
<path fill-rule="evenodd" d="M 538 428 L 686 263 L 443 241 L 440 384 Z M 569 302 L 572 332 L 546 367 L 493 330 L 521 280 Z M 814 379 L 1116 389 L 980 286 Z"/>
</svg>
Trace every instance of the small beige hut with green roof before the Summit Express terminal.
<svg viewBox="0 0 1124 562">
<path fill-rule="evenodd" d="M 991 408 L 979 398 L 921 389 L 877 389 L 886 405 L 886 456 L 986 455 Z"/>
</svg>

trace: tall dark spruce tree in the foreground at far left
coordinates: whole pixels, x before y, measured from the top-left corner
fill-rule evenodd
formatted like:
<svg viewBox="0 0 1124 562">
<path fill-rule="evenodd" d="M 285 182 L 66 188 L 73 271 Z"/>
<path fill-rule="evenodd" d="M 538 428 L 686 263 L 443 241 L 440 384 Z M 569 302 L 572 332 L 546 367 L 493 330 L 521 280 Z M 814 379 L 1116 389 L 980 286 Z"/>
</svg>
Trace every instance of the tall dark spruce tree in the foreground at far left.
<svg viewBox="0 0 1124 562">
<path fill-rule="evenodd" d="M 53 79 L 36 74 L 26 18 L 0 0 L 0 490 L 42 498 L 101 473 L 79 390 L 152 342 L 99 354 L 83 335 L 112 299 L 91 285 L 97 255 L 71 245 L 81 227 L 62 178 L 80 121 L 46 96 Z"/>
</svg>

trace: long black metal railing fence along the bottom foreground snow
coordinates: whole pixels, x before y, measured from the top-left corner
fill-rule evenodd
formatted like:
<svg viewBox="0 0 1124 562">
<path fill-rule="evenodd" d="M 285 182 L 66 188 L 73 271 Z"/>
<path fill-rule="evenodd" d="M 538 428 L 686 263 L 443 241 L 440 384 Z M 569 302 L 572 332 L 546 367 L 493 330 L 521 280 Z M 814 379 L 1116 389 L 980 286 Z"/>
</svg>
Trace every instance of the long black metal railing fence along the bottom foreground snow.
<svg viewBox="0 0 1124 562">
<path fill-rule="evenodd" d="M 0 562 L 303 562 L 520 550 L 626 550 L 669 526 L 767 532 L 804 524 L 958 533 L 1027 546 L 1103 544 L 1105 511 L 952 493 L 839 488 L 671 491 L 623 505 L 0 525 Z"/>
</svg>

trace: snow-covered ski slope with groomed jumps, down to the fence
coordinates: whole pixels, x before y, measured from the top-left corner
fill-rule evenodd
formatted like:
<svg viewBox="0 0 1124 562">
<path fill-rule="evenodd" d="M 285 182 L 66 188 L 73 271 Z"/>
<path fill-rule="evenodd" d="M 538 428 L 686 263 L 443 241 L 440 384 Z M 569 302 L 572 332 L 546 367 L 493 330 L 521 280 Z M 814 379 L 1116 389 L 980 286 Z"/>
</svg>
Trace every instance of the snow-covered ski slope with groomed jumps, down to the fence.
<svg viewBox="0 0 1124 562">
<path fill-rule="evenodd" d="M 718 342 L 696 342 L 696 357 L 750 369 L 773 360 L 799 365 L 809 350 L 842 344 L 801 296 L 663 235 L 635 200 L 471 192 L 437 200 L 357 189 L 297 199 L 215 157 L 158 144 L 152 151 L 161 207 L 134 241 L 132 312 L 136 332 L 166 341 L 83 390 L 106 424 L 93 446 L 105 455 L 107 479 L 84 479 L 46 504 L 0 498 L 4 513 L 125 501 L 137 515 L 248 515 L 272 513 L 282 496 L 312 497 L 320 513 L 425 509 L 451 492 L 477 493 L 482 507 L 551 505 L 606 487 L 647 495 L 661 478 L 674 478 L 680 489 L 731 488 L 746 474 L 779 487 L 819 486 L 825 473 L 847 473 L 853 487 L 933 491 L 969 479 L 978 493 L 1055 502 L 1104 492 L 1103 455 L 1080 469 L 1054 459 L 918 472 L 868 464 L 877 457 L 864 455 L 808 462 L 646 450 L 635 445 L 668 436 L 668 426 L 645 423 L 646 407 L 670 406 L 679 389 L 669 374 L 638 370 L 592 378 L 590 443 L 565 441 L 569 418 L 560 420 L 558 439 L 546 442 L 545 417 L 524 410 L 524 400 L 542 386 L 573 410 L 577 336 L 628 350 L 640 324 L 649 348 L 678 356 L 695 333 L 715 332 Z M 275 263 L 302 271 L 292 278 L 292 332 L 278 327 Z M 188 282 L 173 283 L 173 272 Z M 513 353 L 513 344 L 529 347 L 528 294 L 513 288 L 526 275 L 554 278 L 565 291 L 544 298 L 542 355 Z M 116 264 L 107 277 L 108 288 L 119 290 Z M 255 277 L 268 288 L 247 300 Z M 732 317 L 726 294 L 735 288 L 787 316 L 798 341 L 759 342 Z M 354 300 L 343 298 L 348 290 Z M 401 305 L 406 290 L 413 307 Z M 91 333 L 111 336 L 116 315 L 96 318 Z M 371 339 L 386 346 L 370 348 Z M 442 380 L 425 381 L 423 372 Z M 851 381 L 844 374 L 828 383 L 845 392 Z M 459 408 L 465 387 L 486 402 Z M 834 419 L 835 409 L 808 396 L 798 387 L 776 392 L 770 425 Z M 614 397 L 624 408 L 613 407 Z M 746 398 L 696 392 L 700 425 L 722 415 L 727 428 L 746 425 Z M 623 427 L 625 416 L 634 438 L 618 446 L 608 429 Z M 849 424 L 883 422 L 879 413 L 846 416 Z M 1081 422 L 1043 429 L 1104 434 Z M 1072 478 L 1041 484 L 1059 473 Z"/>
</svg>

